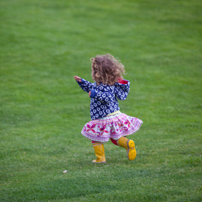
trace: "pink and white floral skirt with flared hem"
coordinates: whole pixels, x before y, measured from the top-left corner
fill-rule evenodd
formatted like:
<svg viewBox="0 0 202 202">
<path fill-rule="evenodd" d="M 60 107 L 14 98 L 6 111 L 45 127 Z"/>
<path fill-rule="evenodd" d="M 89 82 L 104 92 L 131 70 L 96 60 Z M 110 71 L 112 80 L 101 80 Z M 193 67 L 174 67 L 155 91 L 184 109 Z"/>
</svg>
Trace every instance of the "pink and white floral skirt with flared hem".
<svg viewBox="0 0 202 202">
<path fill-rule="evenodd" d="M 118 140 L 122 136 L 132 135 L 142 123 L 140 119 L 120 112 L 86 123 L 81 134 L 92 141 L 107 142 L 109 138 Z"/>
</svg>

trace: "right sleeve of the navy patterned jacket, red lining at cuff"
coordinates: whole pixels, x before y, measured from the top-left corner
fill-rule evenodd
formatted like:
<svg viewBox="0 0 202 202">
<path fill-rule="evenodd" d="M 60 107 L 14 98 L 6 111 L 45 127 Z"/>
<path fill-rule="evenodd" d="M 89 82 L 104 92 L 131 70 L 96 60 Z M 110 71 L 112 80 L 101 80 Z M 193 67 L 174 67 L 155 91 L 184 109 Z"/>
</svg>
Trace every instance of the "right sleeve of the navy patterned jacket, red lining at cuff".
<svg viewBox="0 0 202 202">
<path fill-rule="evenodd" d="M 125 100 L 130 91 L 130 81 L 122 80 L 119 83 L 115 83 L 115 95 L 119 100 Z"/>
</svg>

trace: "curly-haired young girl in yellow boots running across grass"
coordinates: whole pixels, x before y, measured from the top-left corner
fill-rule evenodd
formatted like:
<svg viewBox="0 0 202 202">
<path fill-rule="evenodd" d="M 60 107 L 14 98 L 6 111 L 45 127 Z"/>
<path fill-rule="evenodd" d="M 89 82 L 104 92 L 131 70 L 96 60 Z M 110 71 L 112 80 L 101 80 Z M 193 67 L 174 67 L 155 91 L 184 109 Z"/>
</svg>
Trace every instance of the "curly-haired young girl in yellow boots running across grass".
<svg viewBox="0 0 202 202">
<path fill-rule="evenodd" d="M 125 100 L 130 90 L 130 82 L 124 80 L 124 66 L 112 55 L 97 55 L 91 58 L 92 79 L 95 83 L 74 76 L 79 86 L 91 98 L 90 115 L 92 121 L 85 124 L 81 134 L 92 141 L 96 160 L 105 163 L 104 142 L 109 139 L 127 150 L 129 160 L 136 157 L 135 143 L 126 136 L 140 129 L 140 119 L 121 113 L 118 99 Z"/>
</svg>

